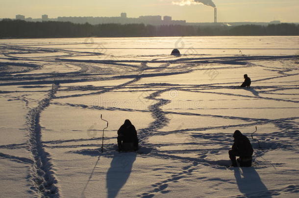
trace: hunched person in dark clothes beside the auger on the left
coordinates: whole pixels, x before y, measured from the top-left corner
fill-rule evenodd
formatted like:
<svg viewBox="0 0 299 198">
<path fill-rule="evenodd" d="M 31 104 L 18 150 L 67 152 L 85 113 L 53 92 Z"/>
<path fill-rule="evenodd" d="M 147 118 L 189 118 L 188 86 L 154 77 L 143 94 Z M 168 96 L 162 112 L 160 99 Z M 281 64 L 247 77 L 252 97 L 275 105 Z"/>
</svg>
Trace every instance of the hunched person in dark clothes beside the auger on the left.
<svg viewBox="0 0 299 198">
<path fill-rule="evenodd" d="M 125 120 L 125 123 L 117 131 L 117 134 L 117 144 L 119 151 L 138 150 L 137 132 L 130 120 Z"/>
</svg>

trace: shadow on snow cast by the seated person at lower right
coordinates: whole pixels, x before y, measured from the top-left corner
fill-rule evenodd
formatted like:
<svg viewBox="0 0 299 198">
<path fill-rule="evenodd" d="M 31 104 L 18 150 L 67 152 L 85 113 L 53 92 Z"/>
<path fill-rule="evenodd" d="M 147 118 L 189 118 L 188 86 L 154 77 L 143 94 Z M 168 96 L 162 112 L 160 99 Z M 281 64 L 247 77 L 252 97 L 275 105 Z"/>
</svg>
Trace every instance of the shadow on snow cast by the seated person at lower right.
<svg viewBox="0 0 299 198">
<path fill-rule="evenodd" d="M 252 167 L 242 167 L 242 174 L 239 168 L 234 169 L 237 185 L 241 193 L 246 197 L 272 198 L 270 191 L 262 182 L 260 176 Z"/>
</svg>

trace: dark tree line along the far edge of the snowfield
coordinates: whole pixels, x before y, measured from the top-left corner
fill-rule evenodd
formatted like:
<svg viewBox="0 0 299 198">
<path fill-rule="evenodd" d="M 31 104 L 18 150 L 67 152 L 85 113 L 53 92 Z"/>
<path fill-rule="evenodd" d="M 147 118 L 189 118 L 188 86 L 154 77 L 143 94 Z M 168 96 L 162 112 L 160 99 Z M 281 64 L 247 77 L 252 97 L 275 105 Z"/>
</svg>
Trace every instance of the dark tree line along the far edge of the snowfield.
<svg viewBox="0 0 299 198">
<path fill-rule="evenodd" d="M 0 38 L 156 37 L 156 36 L 299 36 L 299 25 L 145 25 L 78 24 L 72 22 L 25 22 L 3 19 Z"/>
</svg>

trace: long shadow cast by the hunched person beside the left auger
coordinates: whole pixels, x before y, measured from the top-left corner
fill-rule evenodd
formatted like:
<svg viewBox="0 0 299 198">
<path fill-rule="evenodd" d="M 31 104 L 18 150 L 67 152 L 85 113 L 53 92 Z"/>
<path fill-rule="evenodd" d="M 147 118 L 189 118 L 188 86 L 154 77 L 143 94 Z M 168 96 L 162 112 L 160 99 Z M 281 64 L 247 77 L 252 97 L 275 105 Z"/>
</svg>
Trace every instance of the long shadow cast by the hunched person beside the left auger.
<svg viewBox="0 0 299 198">
<path fill-rule="evenodd" d="M 107 198 L 115 198 L 131 174 L 136 153 L 114 154 L 106 177 Z"/>
</svg>

